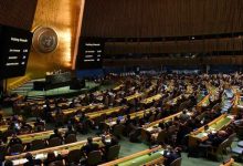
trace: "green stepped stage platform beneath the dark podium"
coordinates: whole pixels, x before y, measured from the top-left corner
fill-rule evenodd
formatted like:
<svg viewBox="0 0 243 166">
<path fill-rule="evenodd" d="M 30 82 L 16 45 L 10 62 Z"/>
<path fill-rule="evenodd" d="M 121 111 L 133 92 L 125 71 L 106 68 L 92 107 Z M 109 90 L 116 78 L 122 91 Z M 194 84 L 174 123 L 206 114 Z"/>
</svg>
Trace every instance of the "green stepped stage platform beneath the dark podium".
<svg viewBox="0 0 243 166">
<path fill-rule="evenodd" d="M 44 97 L 57 97 L 57 96 L 65 96 L 65 97 L 72 97 L 74 95 L 78 95 L 85 92 L 93 92 L 99 89 L 99 84 L 95 82 L 85 82 L 85 87 L 81 90 L 70 90 L 70 86 L 63 86 L 63 87 L 57 87 L 53 90 L 46 90 L 46 91 L 34 91 L 33 90 L 33 82 L 35 81 L 44 81 L 44 79 L 39 79 L 39 80 L 32 80 L 28 82 L 27 84 L 18 87 L 17 90 L 13 90 L 11 93 L 18 93 L 21 95 L 27 96 L 28 98 L 34 98 L 39 96 L 44 96 Z"/>
</svg>

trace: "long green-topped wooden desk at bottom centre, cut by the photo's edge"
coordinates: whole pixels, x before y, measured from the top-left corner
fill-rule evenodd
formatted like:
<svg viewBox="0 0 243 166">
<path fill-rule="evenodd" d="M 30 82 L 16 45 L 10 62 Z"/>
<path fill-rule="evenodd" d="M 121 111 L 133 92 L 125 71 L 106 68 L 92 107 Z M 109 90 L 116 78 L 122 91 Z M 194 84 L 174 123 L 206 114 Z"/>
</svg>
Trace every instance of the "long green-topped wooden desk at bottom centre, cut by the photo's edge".
<svg viewBox="0 0 243 166">
<path fill-rule="evenodd" d="M 151 164 L 162 164 L 162 147 L 158 146 L 152 149 L 146 149 L 109 163 L 102 164 L 99 166 L 148 166 Z"/>
</svg>

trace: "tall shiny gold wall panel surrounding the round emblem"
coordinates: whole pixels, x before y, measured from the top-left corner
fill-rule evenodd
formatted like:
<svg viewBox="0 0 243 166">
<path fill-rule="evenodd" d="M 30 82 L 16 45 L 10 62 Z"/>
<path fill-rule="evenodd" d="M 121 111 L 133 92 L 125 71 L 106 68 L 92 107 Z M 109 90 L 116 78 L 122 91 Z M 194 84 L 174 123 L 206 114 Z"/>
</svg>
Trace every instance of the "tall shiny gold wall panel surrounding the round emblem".
<svg viewBox="0 0 243 166">
<path fill-rule="evenodd" d="M 80 12 L 83 12 L 82 1 L 38 1 L 32 31 L 39 27 L 54 29 L 59 37 L 59 45 L 55 51 L 50 53 L 40 53 L 32 48 L 27 70 L 32 79 L 43 77 L 47 71 L 72 69 Z"/>
</svg>

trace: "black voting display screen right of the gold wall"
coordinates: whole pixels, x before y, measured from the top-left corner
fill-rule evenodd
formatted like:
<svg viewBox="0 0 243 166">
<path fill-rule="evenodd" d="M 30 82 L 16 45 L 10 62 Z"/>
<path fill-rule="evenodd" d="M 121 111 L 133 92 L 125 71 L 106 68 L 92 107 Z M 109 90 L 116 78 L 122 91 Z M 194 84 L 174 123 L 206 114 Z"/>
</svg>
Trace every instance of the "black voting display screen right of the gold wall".
<svg viewBox="0 0 243 166">
<path fill-rule="evenodd" d="M 104 40 L 101 38 L 81 38 L 76 70 L 102 69 Z"/>
</svg>

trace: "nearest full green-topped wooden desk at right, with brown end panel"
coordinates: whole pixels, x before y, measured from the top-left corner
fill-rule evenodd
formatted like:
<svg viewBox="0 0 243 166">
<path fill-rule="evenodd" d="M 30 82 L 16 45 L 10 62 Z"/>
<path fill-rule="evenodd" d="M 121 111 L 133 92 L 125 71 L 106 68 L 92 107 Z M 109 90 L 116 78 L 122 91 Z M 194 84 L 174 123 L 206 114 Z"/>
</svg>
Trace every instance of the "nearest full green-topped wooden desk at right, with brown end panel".
<svg viewBox="0 0 243 166">
<path fill-rule="evenodd" d="M 197 146 L 198 142 L 207 141 L 209 132 L 218 132 L 231 124 L 232 121 L 233 120 L 229 117 L 226 114 L 222 114 L 221 116 L 207 124 L 209 126 L 208 131 L 204 131 L 204 126 L 202 126 L 197 131 L 191 132 L 189 135 L 189 146 Z"/>
</svg>

